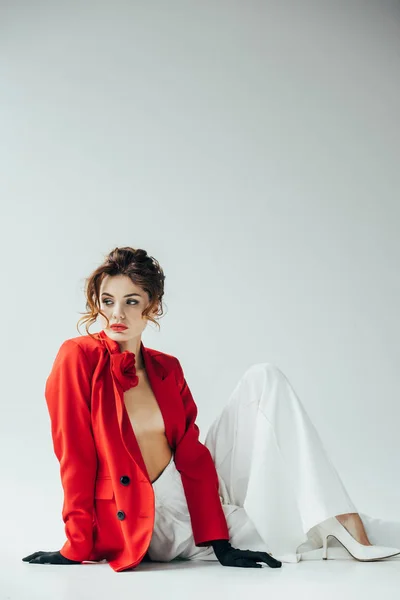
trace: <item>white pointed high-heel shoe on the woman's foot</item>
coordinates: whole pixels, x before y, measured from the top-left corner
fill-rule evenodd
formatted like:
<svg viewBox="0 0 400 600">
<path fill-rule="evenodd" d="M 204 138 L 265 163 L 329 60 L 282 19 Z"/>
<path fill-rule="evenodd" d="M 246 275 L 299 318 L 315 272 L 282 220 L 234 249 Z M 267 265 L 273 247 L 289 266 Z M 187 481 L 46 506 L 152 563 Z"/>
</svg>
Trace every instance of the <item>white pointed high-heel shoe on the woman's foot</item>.
<svg viewBox="0 0 400 600">
<path fill-rule="evenodd" d="M 347 552 L 356 560 L 373 561 L 389 558 L 400 554 L 400 548 L 390 548 L 387 546 L 365 546 L 353 538 L 347 529 L 337 520 L 336 517 L 326 519 L 316 526 L 323 543 L 323 560 L 328 559 L 328 538 L 334 537 L 342 544 Z"/>
</svg>

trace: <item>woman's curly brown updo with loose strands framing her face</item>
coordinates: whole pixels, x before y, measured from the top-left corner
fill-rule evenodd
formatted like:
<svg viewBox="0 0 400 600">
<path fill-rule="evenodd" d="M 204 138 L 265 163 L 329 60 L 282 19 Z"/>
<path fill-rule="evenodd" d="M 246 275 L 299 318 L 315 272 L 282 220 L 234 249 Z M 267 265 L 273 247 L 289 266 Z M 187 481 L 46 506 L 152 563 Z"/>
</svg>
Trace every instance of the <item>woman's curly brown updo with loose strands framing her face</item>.
<svg viewBox="0 0 400 600">
<path fill-rule="evenodd" d="M 86 278 L 86 312 L 81 313 L 83 317 L 77 322 L 78 332 L 80 333 L 80 323 L 85 323 L 86 333 L 90 337 L 93 337 L 89 332 L 89 327 L 93 325 L 99 314 L 105 317 L 108 327 L 110 321 L 100 308 L 100 286 L 107 275 L 127 275 L 133 283 L 147 292 L 149 295 L 149 305 L 142 312 L 142 316 L 160 328 L 159 323 L 150 313 L 157 308 L 157 317 L 161 317 L 164 314 L 162 304 L 165 281 L 164 272 L 159 262 L 153 256 L 149 256 L 146 250 L 125 246 L 111 250 L 108 256 L 106 256 L 105 261 Z"/>
</svg>

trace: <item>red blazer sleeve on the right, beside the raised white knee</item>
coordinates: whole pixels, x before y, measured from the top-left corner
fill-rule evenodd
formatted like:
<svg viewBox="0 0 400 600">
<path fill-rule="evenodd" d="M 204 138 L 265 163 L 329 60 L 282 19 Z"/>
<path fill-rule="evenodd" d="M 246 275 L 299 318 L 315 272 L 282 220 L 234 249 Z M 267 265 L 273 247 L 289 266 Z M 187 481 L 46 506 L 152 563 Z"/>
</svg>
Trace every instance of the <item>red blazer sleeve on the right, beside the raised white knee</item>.
<svg viewBox="0 0 400 600">
<path fill-rule="evenodd" d="M 207 446 L 199 440 L 197 406 L 177 359 L 177 383 L 183 402 L 185 432 L 175 447 L 175 466 L 180 472 L 196 546 L 211 540 L 229 540 L 229 530 L 219 496 L 217 471 Z"/>
</svg>

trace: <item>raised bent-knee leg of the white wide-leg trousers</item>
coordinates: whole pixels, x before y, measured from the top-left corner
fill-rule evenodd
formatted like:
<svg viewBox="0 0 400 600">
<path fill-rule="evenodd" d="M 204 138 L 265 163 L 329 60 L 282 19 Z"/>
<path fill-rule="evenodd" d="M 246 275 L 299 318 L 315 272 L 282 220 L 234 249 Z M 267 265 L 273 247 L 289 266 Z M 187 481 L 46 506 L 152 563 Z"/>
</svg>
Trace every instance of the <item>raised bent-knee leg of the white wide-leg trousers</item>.
<svg viewBox="0 0 400 600">
<path fill-rule="evenodd" d="M 358 512 L 296 392 L 270 363 L 244 373 L 205 445 L 226 501 L 244 507 L 282 562 L 322 546 L 318 523 Z"/>
</svg>

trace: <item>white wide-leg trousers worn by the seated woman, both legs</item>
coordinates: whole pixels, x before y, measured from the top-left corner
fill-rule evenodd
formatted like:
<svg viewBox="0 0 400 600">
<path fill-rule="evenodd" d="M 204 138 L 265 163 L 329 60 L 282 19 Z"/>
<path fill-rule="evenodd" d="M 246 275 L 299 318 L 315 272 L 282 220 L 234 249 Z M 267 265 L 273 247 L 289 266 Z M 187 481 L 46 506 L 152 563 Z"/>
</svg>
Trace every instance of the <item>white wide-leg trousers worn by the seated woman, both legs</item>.
<svg viewBox="0 0 400 600">
<path fill-rule="evenodd" d="M 271 552 L 282 562 L 321 558 L 315 525 L 358 512 L 296 392 L 270 363 L 247 369 L 204 443 L 218 473 L 235 548 Z M 211 546 L 194 544 L 173 456 L 153 489 L 150 558 L 217 560 Z M 360 517 L 372 544 L 400 548 L 400 521 Z M 351 558 L 333 538 L 329 545 L 336 546 L 336 557 Z"/>
</svg>

